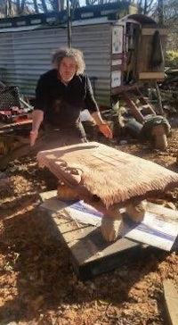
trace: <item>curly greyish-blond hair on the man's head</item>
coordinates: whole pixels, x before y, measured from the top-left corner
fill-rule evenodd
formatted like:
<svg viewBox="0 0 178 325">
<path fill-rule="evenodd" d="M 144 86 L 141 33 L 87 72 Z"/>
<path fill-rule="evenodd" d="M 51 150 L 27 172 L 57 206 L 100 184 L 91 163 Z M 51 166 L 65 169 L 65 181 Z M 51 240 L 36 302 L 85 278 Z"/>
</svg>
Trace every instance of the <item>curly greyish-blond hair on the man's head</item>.
<svg viewBox="0 0 178 325">
<path fill-rule="evenodd" d="M 59 69 L 61 61 L 64 57 L 69 57 L 75 60 L 77 64 L 77 74 L 85 71 L 84 54 L 82 51 L 73 47 L 60 47 L 53 53 L 52 63 L 54 69 Z"/>
</svg>

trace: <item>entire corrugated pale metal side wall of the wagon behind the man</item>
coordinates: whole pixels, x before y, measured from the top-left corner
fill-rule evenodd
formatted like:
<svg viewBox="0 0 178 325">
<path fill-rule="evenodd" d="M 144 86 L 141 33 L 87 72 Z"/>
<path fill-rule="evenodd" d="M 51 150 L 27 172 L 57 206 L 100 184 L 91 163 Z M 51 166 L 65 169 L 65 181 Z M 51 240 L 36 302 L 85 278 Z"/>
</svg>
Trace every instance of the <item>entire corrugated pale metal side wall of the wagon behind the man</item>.
<svg viewBox="0 0 178 325">
<path fill-rule="evenodd" d="M 67 29 L 36 29 L 0 33 L 0 71 L 9 85 L 35 96 L 36 80 L 51 68 L 53 50 L 67 46 Z M 95 97 L 110 104 L 110 24 L 72 28 L 72 46 L 85 55 L 86 72 L 96 77 Z"/>
</svg>

